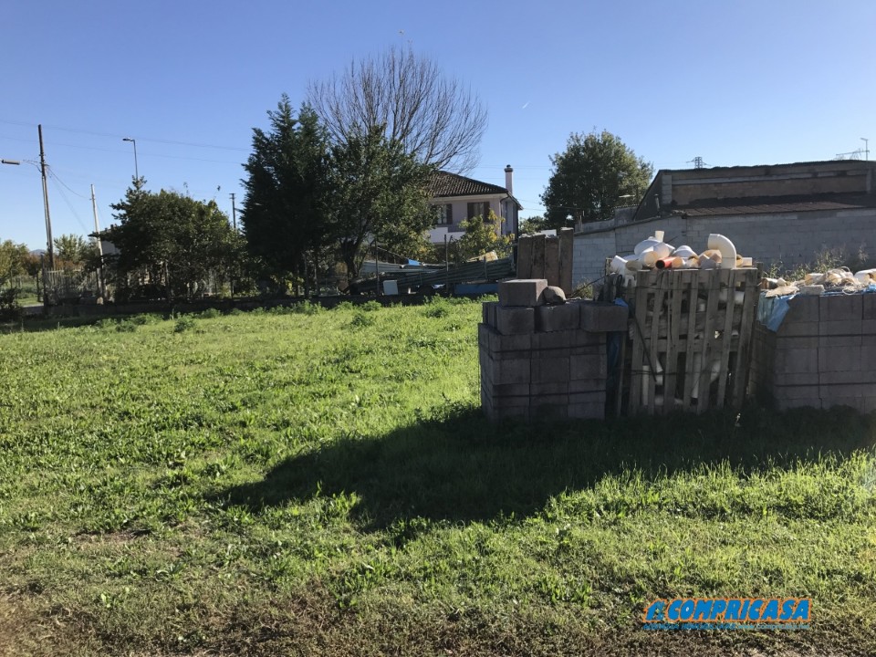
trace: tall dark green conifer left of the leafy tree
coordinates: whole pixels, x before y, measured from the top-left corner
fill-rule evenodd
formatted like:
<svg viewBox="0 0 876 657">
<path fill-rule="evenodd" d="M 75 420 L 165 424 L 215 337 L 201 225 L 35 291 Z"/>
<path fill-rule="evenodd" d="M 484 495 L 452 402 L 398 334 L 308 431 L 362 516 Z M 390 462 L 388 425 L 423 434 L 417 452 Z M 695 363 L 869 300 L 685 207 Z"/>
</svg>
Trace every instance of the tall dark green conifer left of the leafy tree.
<svg viewBox="0 0 876 657">
<path fill-rule="evenodd" d="M 292 110 L 284 94 L 267 112 L 270 129 L 253 130 L 241 213 L 246 244 L 267 271 L 304 276 L 328 245 L 328 136 L 307 105 Z"/>
</svg>

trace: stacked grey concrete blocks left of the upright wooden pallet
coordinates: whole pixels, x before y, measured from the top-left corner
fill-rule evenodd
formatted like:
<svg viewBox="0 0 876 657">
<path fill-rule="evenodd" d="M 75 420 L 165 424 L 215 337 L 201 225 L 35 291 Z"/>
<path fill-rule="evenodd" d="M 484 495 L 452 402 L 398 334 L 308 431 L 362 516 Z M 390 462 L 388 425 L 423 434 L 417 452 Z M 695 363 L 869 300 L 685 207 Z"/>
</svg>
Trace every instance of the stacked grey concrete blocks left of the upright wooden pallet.
<svg viewBox="0 0 876 657">
<path fill-rule="evenodd" d="M 620 326 L 619 307 L 586 301 L 542 305 L 543 289 L 532 280 L 506 281 L 498 303 L 484 304 L 478 327 L 484 412 L 492 420 L 602 419 L 605 332 L 626 328 L 626 317 Z M 522 301 L 534 305 L 512 305 Z M 588 330 L 584 321 L 608 328 Z"/>
</svg>

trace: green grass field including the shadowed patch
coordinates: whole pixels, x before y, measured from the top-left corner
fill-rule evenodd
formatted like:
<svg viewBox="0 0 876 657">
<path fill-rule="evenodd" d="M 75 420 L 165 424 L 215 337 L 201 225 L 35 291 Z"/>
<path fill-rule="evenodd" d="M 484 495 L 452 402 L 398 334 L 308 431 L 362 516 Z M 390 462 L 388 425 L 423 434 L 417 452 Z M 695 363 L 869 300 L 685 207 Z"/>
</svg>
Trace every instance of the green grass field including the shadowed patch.
<svg viewBox="0 0 876 657">
<path fill-rule="evenodd" d="M 372 306 L 0 335 L 0 654 L 876 653 L 876 418 L 493 426 Z M 641 629 L 734 596 L 811 629 Z"/>
</svg>

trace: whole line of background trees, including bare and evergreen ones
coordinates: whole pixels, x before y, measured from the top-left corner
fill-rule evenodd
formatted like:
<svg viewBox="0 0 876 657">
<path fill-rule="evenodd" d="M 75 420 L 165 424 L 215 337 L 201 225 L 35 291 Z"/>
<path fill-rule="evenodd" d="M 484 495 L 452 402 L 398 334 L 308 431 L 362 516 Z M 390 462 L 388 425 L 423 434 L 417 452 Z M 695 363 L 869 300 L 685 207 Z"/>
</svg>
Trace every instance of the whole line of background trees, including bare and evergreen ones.
<svg viewBox="0 0 876 657">
<path fill-rule="evenodd" d="M 63 235 L 57 254 L 65 266 L 102 265 L 119 300 L 193 297 L 208 279 L 242 292 L 307 292 L 326 277 L 344 287 L 369 253 L 442 259 L 426 236 L 437 218 L 430 181 L 439 170 L 467 172 L 485 127 L 483 104 L 458 80 L 410 48 L 390 48 L 311 84 L 297 109 L 284 94 L 267 112 L 243 164 L 240 231 L 213 201 L 149 192 L 140 178 L 101 235 L 113 253 L 101 260 L 93 242 Z M 550 162 L 546 212 L 521 232 L 610 218 L 652 177 L 651 164 L 607 130 L 572 133 Z M 500 222 L 492 212 L 464 222 L 455 255 L 509 249 Z M 21 269 L 7 260 L 26 262 L 16 248 L 0 248 L 0 284 Z"/>
</svg>

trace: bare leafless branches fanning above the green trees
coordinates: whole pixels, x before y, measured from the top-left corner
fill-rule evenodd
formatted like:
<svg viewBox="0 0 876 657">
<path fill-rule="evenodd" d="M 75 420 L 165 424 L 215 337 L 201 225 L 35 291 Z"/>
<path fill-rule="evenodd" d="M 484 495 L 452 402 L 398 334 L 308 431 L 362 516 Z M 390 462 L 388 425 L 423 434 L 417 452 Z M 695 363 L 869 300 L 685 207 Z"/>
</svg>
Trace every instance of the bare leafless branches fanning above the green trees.
<svg viewBox="0 0 876 657">
<path fill-rule="evenodd" d="M 486 130 L 477 96 L 411 49 L 352 61 L 342 74 L 312 82 L 308 102 L 336 141 L 382 126 L 417 161 L 457 173 L 474 168 Z"/>
</svg>

